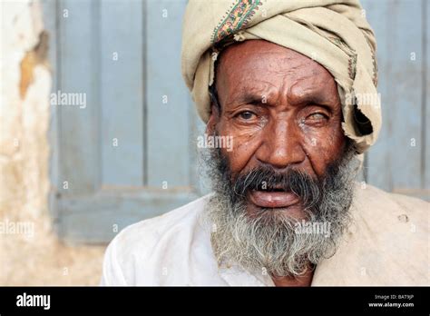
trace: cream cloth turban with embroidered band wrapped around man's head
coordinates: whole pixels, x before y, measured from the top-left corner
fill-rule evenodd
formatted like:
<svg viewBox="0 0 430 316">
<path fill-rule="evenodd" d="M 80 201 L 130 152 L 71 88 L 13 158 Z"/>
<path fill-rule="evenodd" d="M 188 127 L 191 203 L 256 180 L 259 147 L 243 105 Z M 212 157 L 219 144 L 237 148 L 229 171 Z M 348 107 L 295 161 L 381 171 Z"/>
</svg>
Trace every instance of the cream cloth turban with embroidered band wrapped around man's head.
<svg viewBox="0 0 430 316">
<path fill-rule="evenodd" d="M 227 44 L 263 39 L 323 65 L 337 82 L 344 133 L 364 153 L 376 142 L 376 39 L 357 0 L 190 0 L 181 69 L 200 118 L 210 117 L 214 64 Z"/>
</svg>

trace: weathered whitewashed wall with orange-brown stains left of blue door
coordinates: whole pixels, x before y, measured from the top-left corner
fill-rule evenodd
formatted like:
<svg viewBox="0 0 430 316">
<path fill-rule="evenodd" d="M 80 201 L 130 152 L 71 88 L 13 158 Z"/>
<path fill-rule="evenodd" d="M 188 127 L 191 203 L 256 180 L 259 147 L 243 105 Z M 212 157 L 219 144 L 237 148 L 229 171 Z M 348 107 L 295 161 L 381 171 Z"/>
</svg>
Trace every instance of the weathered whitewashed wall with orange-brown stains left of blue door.
<svg viewBox="0 0 430 316">
<path fill-rule="evenodd" d="M 40 4 L 0 5 L 0 285 L 96 284 L 104 247 L 62 244 L 48 215 L 52 75 Z"/>
</svg>

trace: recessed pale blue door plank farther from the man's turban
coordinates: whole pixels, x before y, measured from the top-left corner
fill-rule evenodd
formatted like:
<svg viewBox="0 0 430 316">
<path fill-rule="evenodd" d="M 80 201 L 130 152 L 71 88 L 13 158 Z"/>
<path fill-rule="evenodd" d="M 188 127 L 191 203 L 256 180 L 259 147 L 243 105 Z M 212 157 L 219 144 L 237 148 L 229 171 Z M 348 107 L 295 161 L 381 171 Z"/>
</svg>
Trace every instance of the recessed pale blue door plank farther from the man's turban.
<svg viewBox="0 0 430 316">
<path fill-rule="evenodd" d="M 142 1 L 100 3 L 103 185 L 143 185 Z"/>
</svg>

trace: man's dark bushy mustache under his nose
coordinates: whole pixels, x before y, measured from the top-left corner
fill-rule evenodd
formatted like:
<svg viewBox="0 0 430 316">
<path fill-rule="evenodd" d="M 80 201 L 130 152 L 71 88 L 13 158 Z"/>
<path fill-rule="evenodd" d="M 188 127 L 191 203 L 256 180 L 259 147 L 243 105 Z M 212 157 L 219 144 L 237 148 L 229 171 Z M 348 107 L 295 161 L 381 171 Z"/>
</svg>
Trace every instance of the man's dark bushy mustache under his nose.
<svg viewBox="0 0 430 316">
<path fill-rule="evenodd" d="M 320 202 L 323 192 L 323 182 L 314 179 L 308 173 L 291 168 L 279 172 L 269 166 L 259 166 L 247 173 L 242 173 L 236 179 L 230 178 L 234 199 L 246 199 L 250 191 L 279 191 L 295 193 L 305 208 L 312 208 Z"/>
</svg>

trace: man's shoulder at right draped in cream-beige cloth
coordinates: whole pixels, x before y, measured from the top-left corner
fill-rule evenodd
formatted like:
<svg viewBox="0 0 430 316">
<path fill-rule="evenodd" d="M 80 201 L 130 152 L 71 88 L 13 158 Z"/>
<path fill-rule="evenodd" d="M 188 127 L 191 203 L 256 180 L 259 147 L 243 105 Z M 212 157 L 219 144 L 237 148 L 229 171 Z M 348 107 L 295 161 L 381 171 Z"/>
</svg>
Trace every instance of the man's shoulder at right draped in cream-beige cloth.
<svg viewBox="0 0 430 316">
<path fill-rule="evenodd" d="M 356 221 L 344 249 L 350 259 L 344 262 L 366 269 L 368 283 L 428 284 L 430 203 L 371 185 L 359 187 L 356 198 Z M 359 274 L 358 280 L 366 278 Z"/>
</svg>

